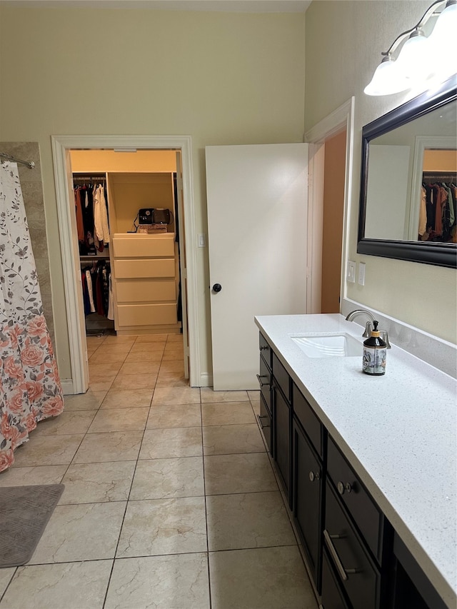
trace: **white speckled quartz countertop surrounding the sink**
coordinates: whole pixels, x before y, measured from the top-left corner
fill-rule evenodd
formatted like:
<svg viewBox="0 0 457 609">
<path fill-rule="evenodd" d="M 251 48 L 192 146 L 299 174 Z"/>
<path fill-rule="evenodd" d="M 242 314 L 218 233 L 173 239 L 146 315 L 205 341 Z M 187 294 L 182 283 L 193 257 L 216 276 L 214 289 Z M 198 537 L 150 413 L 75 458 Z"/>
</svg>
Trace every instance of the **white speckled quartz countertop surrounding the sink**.
<svg viewBox="0 0 457 609">
<path fill-rule="evenodd" d="M 363 328 L 336 313 L 255 321 L 433 586 L 455 608 L 456 380 L 394 345 L 385 375 L 364 374 Z M 360 357 L 308 358 L 289 335 L 312 332 L 356 336 Z"/>
</svg>

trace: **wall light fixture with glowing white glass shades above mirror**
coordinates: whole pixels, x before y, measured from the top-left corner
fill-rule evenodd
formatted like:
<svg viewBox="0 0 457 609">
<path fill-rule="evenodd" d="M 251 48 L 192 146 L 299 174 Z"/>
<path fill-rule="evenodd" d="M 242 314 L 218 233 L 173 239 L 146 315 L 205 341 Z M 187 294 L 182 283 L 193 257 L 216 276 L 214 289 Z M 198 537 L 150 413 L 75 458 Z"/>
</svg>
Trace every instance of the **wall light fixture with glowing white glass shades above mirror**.
<svg viewBox="0 0 457 609">
<path fill-rule="evenodd" d="M 364 93 L 390 95 L 408 89 L 424 91 L 430 79 L 441 82 L 456 74 L 456 33 L 457 0 L 433 2 L 418 24 L 399 34 L 390 49 L 381 53 L 383 60 Z"/>
</svg>

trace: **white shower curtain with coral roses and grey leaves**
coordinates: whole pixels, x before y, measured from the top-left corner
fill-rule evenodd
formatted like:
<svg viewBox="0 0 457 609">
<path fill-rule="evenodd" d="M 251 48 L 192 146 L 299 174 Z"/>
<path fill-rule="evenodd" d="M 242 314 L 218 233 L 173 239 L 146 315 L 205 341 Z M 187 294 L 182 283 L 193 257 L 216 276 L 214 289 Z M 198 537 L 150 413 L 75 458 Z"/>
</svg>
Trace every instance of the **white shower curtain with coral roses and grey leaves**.
<svg viewBox="0 0 457 609">
<path fill-rule="evenodd" d="M 64 410 L 16 163 L 0 163 L 0 472 Z"/>
</svg>

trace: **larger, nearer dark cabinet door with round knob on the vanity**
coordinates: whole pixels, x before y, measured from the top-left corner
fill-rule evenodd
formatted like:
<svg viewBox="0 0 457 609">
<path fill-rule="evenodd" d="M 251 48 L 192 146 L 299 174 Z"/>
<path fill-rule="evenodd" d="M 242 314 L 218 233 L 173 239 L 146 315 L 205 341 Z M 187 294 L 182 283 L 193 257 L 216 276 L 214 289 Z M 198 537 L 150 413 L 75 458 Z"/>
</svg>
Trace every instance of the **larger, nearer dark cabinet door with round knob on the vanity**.
<svg viewBox="0 0 457 609">
<path fill-rule="evenodd" d="M 321 592 L 322 493 L 321 461 L 300 424 L 293 418 L 293 516 L 303 539 L 308 566 Z"/>
</svg>

